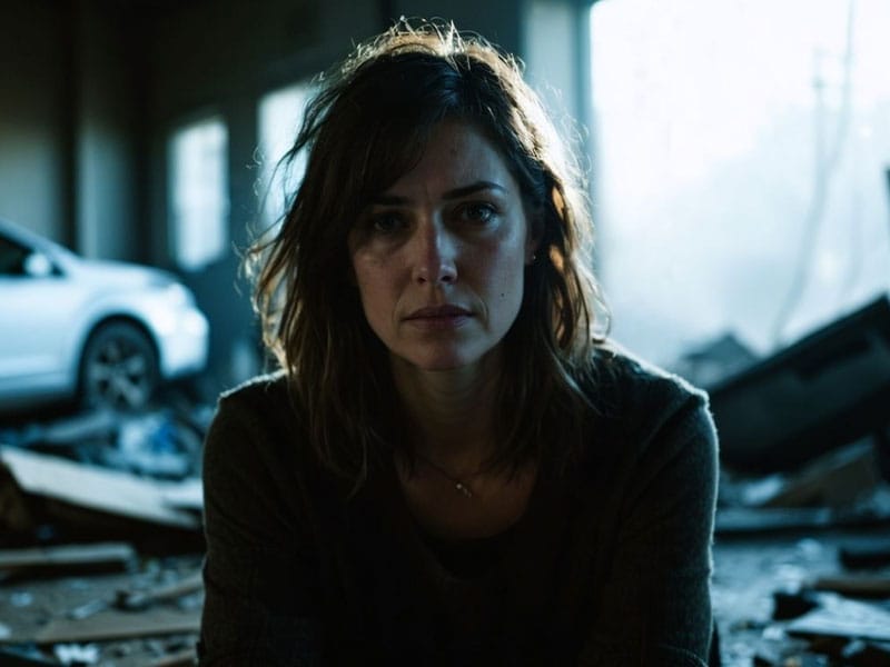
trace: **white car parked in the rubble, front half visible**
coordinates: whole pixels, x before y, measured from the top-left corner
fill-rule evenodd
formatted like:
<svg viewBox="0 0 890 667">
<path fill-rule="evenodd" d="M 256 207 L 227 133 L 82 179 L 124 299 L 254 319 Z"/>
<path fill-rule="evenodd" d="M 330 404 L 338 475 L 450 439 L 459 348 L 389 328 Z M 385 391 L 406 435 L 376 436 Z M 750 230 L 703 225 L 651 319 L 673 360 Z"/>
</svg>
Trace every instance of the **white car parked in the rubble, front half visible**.
<svg viewBox="0 0 890 667">
<path fill-rule="evenodd" d="M 0 410 L 138 409 L 207 362 L 207 318 L 164 271 L 88 260 L 0 220 Z"/>
</svg>

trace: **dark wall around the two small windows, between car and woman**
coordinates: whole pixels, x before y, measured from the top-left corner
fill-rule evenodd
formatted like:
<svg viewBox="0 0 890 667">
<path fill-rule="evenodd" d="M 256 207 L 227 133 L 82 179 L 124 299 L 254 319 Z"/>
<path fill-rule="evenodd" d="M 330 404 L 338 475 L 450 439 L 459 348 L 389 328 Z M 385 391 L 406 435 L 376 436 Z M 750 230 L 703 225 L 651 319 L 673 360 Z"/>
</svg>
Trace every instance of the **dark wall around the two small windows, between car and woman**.
<svg viewBox="0 0 890 667">
<path fill-rule="evenodd" d="M 276 88 L 326 69 L 354 40 L 384 24 L 373 0 L 194 1 L 158 12 L 148 61 L 150 151 L 149 222 L 155 263 L 169 262 L 167 140 L 179 126 L 204 115 L 222 116 L 228 128 L 229 236 L 249 241 L 256 219 L 257 102 Z M 257 368 L 258 331 L 235 252 L 199 272 L 182 275 L 211 321 L 210 381 L 231 386 Z"/>
</svg>

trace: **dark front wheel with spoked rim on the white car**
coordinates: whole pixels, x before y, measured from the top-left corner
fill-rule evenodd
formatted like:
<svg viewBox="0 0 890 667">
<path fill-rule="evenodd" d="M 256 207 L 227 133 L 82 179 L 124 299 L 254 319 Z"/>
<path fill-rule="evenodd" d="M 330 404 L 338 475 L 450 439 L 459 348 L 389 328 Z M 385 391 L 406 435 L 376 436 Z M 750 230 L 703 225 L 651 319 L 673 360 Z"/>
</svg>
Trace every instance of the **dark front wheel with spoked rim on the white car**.
<svg viewBox="0 0 890 667">
<path fill-rule="evenodd" d="M 97 329 L 83 348 L 79 398 L 83 407 L 137 410 L 158 386 L 158 357 L 141 329 L 110 322 Z"/>
</svg>

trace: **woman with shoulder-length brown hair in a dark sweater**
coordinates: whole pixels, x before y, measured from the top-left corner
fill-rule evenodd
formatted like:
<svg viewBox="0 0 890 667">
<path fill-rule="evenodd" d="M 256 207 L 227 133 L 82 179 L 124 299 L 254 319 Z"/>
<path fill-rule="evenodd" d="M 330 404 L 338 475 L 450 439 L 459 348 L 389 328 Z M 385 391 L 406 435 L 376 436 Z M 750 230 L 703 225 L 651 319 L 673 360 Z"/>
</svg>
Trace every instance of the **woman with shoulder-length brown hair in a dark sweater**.
<svg viewBox="0 0 890 667">
<path fill-rule="evenodd" d="M 590 216 L 516 63 L 400 24 L 322 79 L 254 248 L 281 371 L 205 454 L 205 664 L 700 666 L 704 396 L 594 336 Z"/>
</svg>

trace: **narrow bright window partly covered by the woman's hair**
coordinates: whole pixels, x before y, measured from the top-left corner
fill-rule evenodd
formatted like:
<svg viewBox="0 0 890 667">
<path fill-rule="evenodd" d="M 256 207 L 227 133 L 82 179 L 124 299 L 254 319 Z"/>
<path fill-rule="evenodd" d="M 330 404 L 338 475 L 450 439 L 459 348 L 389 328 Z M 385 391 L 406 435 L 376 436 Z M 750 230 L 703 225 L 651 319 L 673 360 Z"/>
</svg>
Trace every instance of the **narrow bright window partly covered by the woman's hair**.
<svg viewBox="0 0 890 667">
<path fill-rule="evenodd" d="M 309 86 L 297 83 L 265 96 L 259 102 L 259 187 L 264 227 L 284 216 L 306 168 L 305 156 L 279 165 L 297 138 Z"/>
</svg>

